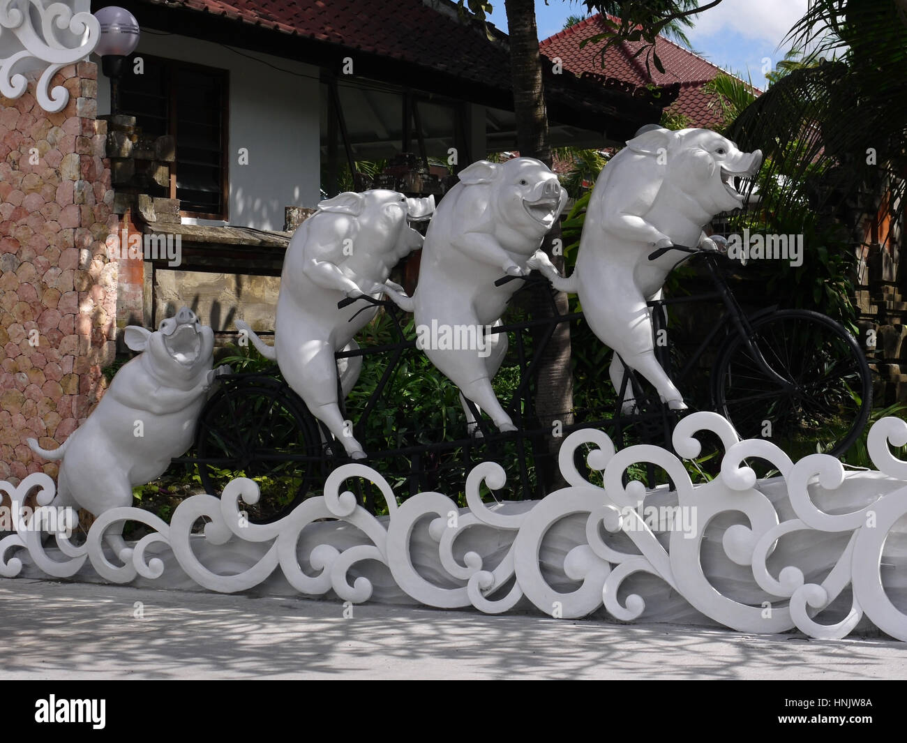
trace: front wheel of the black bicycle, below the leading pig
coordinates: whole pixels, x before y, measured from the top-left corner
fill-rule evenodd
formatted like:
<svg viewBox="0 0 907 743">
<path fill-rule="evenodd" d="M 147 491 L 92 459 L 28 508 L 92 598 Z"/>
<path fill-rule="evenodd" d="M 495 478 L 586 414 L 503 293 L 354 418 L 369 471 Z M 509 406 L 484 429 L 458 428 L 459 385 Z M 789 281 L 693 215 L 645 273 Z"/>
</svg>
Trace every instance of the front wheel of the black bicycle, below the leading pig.
<svg viewBox="0 0 907 743">
<path fill-rule="evenodd" d="M 863 432 L 873 378 L 843 326 L 807 309 L 752 321 L 754 346 L 789 383 L 766 374 L 739 335 L 715 366 L 716 410 L 744 438 L 767 438 L 795 462 L 816 451 L 842 455 Z"/>
</svg>

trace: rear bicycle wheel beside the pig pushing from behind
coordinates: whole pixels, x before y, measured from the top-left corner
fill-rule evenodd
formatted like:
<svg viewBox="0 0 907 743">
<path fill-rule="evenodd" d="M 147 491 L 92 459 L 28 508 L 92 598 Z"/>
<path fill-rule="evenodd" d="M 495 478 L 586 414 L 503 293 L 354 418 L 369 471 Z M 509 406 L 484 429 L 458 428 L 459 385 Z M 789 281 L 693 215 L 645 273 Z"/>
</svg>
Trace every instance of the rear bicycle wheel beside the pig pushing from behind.
<svg viewBox="0 0 907 743">
<path fill-rule="evenodd" d="M 320 482 L 322 447 L 306 406 L 268 376 L 232 379 L 204 407 L 196 436 L 205 492 L 219 495 L 236 477 L 258 483 L 252 523 L 277 521 Z"/>
</svg>

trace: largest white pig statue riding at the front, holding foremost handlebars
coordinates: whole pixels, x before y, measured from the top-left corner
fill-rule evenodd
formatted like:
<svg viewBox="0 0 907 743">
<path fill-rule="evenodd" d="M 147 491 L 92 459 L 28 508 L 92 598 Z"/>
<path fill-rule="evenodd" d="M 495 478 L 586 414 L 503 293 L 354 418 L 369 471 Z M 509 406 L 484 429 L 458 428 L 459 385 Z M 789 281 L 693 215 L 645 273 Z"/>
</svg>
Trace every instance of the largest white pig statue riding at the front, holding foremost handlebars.
<svg viewBox="0 0 907 743">
<path fill-rule="evenodd" d="M 644 127 L 596 181 L 571 277 L 561 277 L 543 253 L 531 261 L 554 288 L 579 295 L 590 328 L 616 352 L 610 366 L 616 390 L 623 382 L 622 358 L 655 386 L 662 402 L 686 409 L 655 357 L 647 306 L 683 254 L 668 250 L 655 260 L 649 255 L 675 244 L 700 244 L 703 228 L 718 212 L 743 204 L 732 179 L 755 175 L 761 163 L 762 152 L 740 152 L 717 132 Z M 628 387 L 624 411 L 633 405 Z"/>
</svg>

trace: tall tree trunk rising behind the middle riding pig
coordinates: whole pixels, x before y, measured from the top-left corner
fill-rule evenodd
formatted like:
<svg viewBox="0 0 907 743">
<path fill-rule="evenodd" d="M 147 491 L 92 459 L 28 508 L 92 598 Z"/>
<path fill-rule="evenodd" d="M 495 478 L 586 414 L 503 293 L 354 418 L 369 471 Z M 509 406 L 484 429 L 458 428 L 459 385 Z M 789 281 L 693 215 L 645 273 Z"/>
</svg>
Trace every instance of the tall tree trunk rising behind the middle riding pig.
<svg viewBox="0 0 907 743">
<path fill-rule="evenodd" d="M 511 48 L 511 76 L 513 84 L 513 110 L 516 113 L 517 147 L 524 157 L 534 157 L 551 168 L 551 141 L 548 135 L 548 112 L 541 77 L 539 34 L 535 25 L 533 0 L 507 0 L 507 26 Z M 558 240 L 559 242 L 555 242 Z M 563 269 L 563 257 L 552 253 L 552 245 L 561 244 L 561 226 L 554 228 L 545 238 L 542 248 L 554 265 Z M 561 253 L 561 251 L 558 251 Z M 533 318 L 550 318 L 554 311 L 565 315 L 569 311 L 567 295 L 555 294 L 555 307 L 551 307 L 549 287 L 533 291 L 530 309 Z M 545 328 L 533 330 L 537 342 Z M 535 345 L 535 344 L 533 344 Z M 561 425 L 572 423 L 573 377 L 571 375 L 570 324 L 560 323 L 549 340 L 540 359 L 536 376 L 535 410 L 541 427 L 554 431 Z M 533 447 L 536 474 L 545 491 L 562 484 L 557 466 L 557 452 L 562 437 L 548 435 L 545 443 Z"/>
</svg>

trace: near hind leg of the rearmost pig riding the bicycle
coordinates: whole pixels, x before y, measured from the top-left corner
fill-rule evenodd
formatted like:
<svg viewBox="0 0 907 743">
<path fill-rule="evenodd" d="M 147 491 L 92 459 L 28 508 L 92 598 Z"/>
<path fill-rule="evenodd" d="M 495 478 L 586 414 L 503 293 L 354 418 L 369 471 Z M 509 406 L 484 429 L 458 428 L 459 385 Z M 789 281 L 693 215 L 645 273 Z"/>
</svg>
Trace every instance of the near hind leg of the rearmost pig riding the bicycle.
<svg viewBox="0 0 907 743">
<path fill-rule="evenodd" d="M 296 390 L 306 403 L 309 412 L 327 425 L 328 430 L 353 459 L 365 459 L 362 445 L 351 435 L 344 416 L 337 404 L 337 367 L 334 348 L 322 343 L 317 351 L 307 355 L 305 364 L 280 365 L 280 371 L 289 386 Z"/>
</svg>

